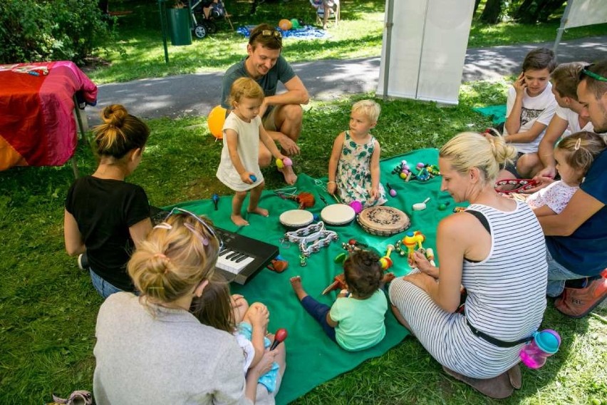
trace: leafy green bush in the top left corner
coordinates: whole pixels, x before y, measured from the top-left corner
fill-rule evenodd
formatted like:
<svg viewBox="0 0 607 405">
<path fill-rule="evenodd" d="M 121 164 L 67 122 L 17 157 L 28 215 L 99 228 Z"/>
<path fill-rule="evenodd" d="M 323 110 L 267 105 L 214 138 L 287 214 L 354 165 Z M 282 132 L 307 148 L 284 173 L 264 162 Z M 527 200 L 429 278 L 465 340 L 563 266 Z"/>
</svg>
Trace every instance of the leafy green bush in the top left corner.
<svg viewBox="0 0 607 405">
<path fill-rule="evenodd" d="M 0 1 L 0 63 L 83 63 L 110 34 L 98 0 Z"/>
</svg>

